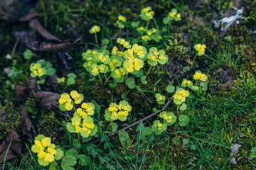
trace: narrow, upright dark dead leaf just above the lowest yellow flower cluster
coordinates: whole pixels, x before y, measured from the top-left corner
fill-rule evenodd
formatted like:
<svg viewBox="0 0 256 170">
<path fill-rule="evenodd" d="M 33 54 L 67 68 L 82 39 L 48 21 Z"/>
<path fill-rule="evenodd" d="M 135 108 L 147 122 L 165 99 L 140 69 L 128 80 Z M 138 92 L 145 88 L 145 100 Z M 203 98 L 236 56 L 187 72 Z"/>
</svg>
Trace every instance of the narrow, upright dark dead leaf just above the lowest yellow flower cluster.
<svg viewBox="0 0 256 170">
<path fill-rule="evenodd" d="M 23 135 L 34 138 L 36 137 L 36 130 L 28 117 L 28 113 L 23 106 L 21 106 L 21 130 Z"/>
</svg>

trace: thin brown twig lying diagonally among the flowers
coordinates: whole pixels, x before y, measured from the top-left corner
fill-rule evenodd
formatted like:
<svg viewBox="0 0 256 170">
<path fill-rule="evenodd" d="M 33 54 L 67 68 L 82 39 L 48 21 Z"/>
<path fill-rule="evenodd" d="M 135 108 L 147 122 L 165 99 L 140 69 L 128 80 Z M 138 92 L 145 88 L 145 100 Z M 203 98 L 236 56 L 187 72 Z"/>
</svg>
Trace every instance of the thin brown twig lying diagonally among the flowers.
<svg viewBox="0 0 256 170">
<path fill-rule="evenodd" d="M 166 103 L 166 105 L 165 105 L 163 108 L 161 108 L 160 111 L 157 111 L 157 112 L 155 112 L 155 113 L 152 113 L 151 115 L 146 116 L 146 118 L 143 118 L 142 120 L 139 120 L 139 121 L 137 121 L 136 123 L 132 123 L 132 125 L 128 125 L 127 127 L 122 128 L 121 130 L 127 130 L 127 129 L 129 129 L 129 128 L 132 128 L 134 125 L 139 125 L 139 123 L 143 122 L 144 120 L 147 120 L 147 119 L 149 119 L 149 118 L 152 118 L 154 115 L 157 115 L 157 114 L 161 113 L 162 111 L 164 111 L 164 110 L 167 108 L 167 106 L 169 106 L 169 104 L 171 103 L 171 100 L 172 100 L 173 98 L 174 98 L 174 94 L 173 94 L 173 96 L 171 96 L 171 98 L 168 98 L 168 102 Z M 117 132 L 113 132 L 112 134 L 110 134 L 110 137 L 116 135 L 117 133 L 119 133 L 119 131 L 120 131 L 120 130 L 117 130 Z M 95 140 L 95 141 L 92 142 L 92 143 L 97 143 L 97 142 L 100 142 L 100 139 Z"/>
</svg>

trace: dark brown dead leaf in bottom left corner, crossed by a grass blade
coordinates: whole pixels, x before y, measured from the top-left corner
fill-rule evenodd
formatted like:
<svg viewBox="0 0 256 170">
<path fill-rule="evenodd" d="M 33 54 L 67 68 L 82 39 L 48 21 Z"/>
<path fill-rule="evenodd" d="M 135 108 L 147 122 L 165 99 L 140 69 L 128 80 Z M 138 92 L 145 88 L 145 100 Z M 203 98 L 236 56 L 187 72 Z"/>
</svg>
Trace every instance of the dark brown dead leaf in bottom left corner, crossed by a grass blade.
<svg viewBox="0 0 256 170">
<path fill-rule="evenodd" d="M 6 161 L 15 159 L 16 157 L 18 157 L 19 152 L 21 152 L 22 142 L 19 139 L 18 134 L 15 132 L 15 130 L 13 130 L 11 131 L 9 137 L 6 137 L 6 140 L 4 140 L 0 145 L 0 164 L 4 162 L 4 157 L 10 142 L 11 145 L 6 156 Z"/>
</svg>

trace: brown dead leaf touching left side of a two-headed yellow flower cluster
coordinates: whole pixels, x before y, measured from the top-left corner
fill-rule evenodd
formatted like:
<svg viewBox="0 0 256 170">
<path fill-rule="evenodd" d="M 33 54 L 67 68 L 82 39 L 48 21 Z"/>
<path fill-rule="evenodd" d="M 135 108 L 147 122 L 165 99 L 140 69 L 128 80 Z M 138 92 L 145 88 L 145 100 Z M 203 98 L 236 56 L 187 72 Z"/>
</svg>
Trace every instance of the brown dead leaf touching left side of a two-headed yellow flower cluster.
<svg viewBox="0 0 256 170">
<path fill-rule="evenodd" d="M 58 99 L 60 99 L 60 94 L 55 94 L 50 91 L 38 91 L 36 98 L 40 99 L 41 104 L 49 110 L 52 107 L 58 108 L 59 106 Z"/>
</svg>

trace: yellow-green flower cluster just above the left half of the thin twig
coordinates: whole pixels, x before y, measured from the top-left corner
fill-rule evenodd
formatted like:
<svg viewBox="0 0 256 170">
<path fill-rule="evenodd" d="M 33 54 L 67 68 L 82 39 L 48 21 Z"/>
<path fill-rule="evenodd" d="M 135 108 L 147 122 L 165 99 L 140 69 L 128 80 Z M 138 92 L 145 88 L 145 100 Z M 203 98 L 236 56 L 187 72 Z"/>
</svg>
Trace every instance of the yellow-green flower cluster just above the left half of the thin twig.
<svg viewBox="0 0 256 170">
<path fill-rule="evenodd" d="M 132 106 L 127 101 L 120 101 L 119 105 L 110 103 L 110 107 L 105 110 L 106 120 L 127 120 L 127 115 L 132 111 Z"/>
</svg>

